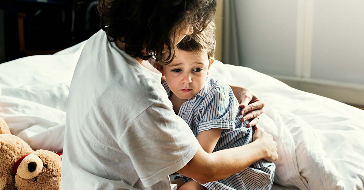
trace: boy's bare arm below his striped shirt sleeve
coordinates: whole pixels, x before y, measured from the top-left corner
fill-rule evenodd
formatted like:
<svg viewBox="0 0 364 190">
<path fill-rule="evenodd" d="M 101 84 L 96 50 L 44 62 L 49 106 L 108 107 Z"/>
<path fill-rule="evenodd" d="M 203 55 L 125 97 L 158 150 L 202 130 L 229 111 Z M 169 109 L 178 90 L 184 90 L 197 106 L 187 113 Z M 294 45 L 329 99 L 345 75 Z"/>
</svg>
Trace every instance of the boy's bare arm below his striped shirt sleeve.
<svg viewBox="0 0 364 190">
<path fill-rule="evenodd" d="M 209 130 L 201 131 L 197 135 L 197 140 L 200 143 L 203 150 L 207 153 L 212 153 L 217 141 L 220 138 L 222 129 L 212 128 Z"/>
</svg>

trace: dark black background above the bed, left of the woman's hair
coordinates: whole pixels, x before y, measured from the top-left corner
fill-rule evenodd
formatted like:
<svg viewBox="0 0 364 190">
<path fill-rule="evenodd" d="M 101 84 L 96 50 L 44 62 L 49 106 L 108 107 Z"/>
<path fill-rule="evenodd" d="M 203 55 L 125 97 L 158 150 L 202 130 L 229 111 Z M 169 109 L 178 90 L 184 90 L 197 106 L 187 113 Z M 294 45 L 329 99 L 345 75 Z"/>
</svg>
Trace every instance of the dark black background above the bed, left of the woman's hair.
<svg viewBox="0 0 364 190">
<path fill-rule="evenodd" d="M 53 54 L 90 38 L 100 30 L 96 5 L 96 0 L 0 0 L 0 63 Z"/>
</svg>

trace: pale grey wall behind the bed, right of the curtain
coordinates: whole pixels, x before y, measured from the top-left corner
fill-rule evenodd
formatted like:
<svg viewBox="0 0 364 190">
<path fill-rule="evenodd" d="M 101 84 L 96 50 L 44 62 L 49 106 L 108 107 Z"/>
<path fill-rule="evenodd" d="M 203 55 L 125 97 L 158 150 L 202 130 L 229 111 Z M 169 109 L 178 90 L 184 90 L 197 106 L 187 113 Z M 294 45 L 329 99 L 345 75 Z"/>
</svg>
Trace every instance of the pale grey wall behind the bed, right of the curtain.
<svg viewBox="0 0 364 190">
<path fill-rule="evenodd" d="M 364 1 L 235 4 L 242 66 L 300 90 L 364 105 Z"/>
</svg>

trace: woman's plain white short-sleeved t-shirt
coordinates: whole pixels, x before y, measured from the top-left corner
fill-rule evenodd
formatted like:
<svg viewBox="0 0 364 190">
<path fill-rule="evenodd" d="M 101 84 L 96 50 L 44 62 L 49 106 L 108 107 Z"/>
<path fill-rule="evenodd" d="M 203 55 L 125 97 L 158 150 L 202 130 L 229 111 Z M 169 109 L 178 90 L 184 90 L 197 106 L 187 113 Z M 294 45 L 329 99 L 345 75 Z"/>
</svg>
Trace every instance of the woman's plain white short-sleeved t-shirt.
<svg viewBox="0 0 364 190">
<path fill-rule="evenodd" d="M 161 73 L 143 65 L 102 30 L 85 44 L 68 95 L 62 189 L 170 190 L 168 175 L 196 153 Z"/>
</svg>

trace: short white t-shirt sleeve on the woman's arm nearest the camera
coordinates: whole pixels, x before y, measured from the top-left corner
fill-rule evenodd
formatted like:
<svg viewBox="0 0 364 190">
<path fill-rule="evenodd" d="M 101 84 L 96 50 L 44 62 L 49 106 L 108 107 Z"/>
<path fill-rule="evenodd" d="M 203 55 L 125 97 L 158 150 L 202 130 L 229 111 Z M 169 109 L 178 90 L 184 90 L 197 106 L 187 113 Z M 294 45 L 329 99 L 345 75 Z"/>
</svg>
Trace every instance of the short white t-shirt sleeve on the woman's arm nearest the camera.
<svg viewBox="0 0 364 190">
<path fill-rule="evenodd" d="M 118 139 L 146 187 L 181 169 L 198 149 L 191 129 L 168 104 L 171 102 L 167 99 L 151 105 Z"/>
</svg>

